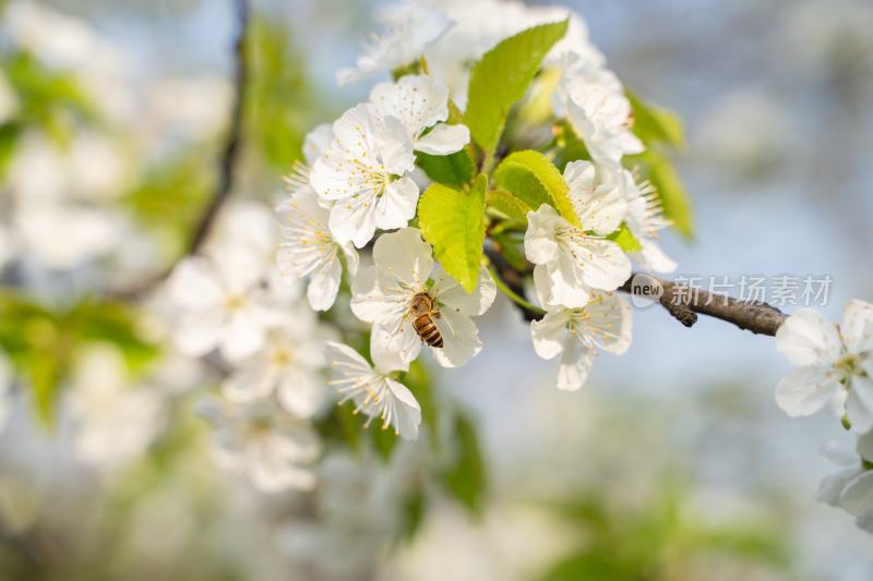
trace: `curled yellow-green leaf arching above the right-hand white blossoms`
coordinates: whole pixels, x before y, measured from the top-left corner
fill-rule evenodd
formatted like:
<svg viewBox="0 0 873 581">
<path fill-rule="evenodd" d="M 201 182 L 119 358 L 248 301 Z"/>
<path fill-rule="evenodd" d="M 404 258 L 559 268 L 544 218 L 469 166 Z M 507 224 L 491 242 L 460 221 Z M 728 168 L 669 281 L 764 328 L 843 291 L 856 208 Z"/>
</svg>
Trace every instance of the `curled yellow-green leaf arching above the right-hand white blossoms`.
<svg viewBox="0 0 873 581">
<path fill-rule="evenodd" d="M 494 171 L 494 182 L 531 209 L 551 204 L 566 221 L 579 226 L 563 175 L 539 152 L 528 149 L 511 154 Z"/>
</svg>

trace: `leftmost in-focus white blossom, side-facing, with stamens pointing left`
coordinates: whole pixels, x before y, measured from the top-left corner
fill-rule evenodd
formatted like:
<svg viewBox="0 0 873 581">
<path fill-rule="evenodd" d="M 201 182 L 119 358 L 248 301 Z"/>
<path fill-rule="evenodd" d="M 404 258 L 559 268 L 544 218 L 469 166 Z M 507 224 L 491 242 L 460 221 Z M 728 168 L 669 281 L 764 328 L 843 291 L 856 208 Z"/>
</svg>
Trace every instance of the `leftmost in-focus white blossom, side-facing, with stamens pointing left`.
<svg viewBox="0 0 873 581">
<path fill-rule="evenodd" d="M 336 300 L 345 256 L 351 276 L 358 253 L 350 242 L 340 244 L 327 226 L 330 210 L 319 205 L 315 192 L 303 186 L 276 207 L 282 227 L 276 253 L 279 274 L 286 279 L 309 277 L 307 299 L 316 311 L 327 311 Z"/>
</svg>

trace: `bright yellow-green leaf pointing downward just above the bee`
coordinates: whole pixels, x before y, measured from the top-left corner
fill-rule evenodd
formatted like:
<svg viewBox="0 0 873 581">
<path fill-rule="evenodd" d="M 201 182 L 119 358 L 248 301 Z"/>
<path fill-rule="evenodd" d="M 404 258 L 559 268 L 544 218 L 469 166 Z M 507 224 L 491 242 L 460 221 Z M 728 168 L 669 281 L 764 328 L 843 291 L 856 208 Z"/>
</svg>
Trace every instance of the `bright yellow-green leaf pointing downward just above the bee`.
<svg viewBox="0 0 873 581">
<path fill-rule="evenodd" d="M 488 178 L 480 174 L 469 192 L 434 183 L 418 203 L 421 234 L 436 259 L 467 292 L 479 280 L 485 243 L 485 192 Z"/>
</svg>

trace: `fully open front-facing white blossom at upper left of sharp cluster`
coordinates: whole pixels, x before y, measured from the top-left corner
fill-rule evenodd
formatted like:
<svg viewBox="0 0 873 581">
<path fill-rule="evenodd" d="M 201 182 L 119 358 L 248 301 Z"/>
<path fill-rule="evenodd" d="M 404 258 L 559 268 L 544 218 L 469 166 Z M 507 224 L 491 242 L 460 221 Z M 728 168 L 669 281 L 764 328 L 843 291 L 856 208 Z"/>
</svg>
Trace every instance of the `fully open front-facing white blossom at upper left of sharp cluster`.
<svg viewBox="0 0 873 581">
<path fill-rule="evenodd" d="M 406 175 L 415 168 L 412 142 L 398 119 L 375 123 L 368 104 L 346 111 L 333 130 L 310 182 L 332 206 L 333 238 L 362 247 L 376 228 L 403 228 L 415 216 L 418 185 Z"/>
</svg>

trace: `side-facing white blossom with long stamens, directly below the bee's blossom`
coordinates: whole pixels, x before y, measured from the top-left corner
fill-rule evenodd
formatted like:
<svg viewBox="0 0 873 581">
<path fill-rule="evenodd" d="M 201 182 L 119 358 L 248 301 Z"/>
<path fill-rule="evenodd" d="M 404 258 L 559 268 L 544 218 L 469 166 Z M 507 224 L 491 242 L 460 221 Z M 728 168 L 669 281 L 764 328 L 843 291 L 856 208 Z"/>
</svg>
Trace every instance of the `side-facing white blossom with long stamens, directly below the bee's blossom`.
<svg viewBox="0 0 873 581">
<path fill-rule="evenodd" d="M 374 417 L 382 420 L 382 428 L 391 427 L 405 439 L 418 437 L 421 423 L 421 407 L 409 389 L 391 378 L 392 361 L 381 361 L 379 352 L 373 352 L 374 366 L 367 363 L 357 351 L 348 346 L 328 341 L 333 385 L 343 396 L 340 404 L 347 400 L 355 403 L 355 413 L 368 416 L 367 424 Z"/>
</svg>

